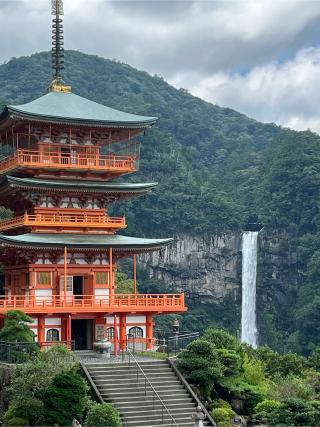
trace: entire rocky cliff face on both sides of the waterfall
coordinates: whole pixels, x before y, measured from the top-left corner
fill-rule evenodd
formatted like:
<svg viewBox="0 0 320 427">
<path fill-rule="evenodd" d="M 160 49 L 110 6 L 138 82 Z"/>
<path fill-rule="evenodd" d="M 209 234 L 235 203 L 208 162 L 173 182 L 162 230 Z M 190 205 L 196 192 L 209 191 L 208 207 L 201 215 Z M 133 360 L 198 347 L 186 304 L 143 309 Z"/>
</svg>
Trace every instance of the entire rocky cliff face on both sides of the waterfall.
<svg viewBox="0 0 320 427">
<path fill-rule="evenodd" d="M 240 329 L 241 235 L 205 237 L 180 235 L 161 252 L 141 256 L 140 266 L 150 277 L 177 291 L 183 289 L 187 303 L 207 305 L 211 318 L 221 326 Z M 290 307 L 294 306 L 302 276 L 291 237 L 262 231 L 258 240 L 257 328 L 259 343 L 283 348 L 284 331 L 290 330 Z M 194 307 L 194 305 L 193 305 Z M 234 314 L 233 312 L 237 312 Z M 225 319 L 234 316 L 226 324 Z"/>
</svg>

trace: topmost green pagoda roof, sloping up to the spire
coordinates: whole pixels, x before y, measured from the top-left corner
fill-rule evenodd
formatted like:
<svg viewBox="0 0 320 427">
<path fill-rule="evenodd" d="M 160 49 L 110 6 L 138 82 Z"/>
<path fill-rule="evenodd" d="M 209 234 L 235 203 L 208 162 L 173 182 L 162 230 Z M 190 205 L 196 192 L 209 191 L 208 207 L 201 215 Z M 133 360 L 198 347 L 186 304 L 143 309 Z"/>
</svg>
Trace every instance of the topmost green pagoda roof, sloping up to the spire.
<svg viewBox="0 0 320 427">
<path fill-rule="evenodd" d="M 157 120 L 156 117 L 124 113 L 74 93 L 63 92 L 49 92 L 23 105 L 9 105 L 3 114 L 6 111 L 18 117 L 40 121 L 127 128 L 147 127 Z"/>
</svg>

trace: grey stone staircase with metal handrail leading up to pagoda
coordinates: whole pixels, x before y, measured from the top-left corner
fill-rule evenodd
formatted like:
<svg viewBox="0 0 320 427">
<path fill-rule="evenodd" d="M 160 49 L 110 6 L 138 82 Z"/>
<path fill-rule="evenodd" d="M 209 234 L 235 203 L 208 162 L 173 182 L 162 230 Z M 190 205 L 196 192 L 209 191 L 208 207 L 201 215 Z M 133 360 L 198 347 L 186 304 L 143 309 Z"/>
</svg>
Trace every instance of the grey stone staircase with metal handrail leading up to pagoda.
<svg viewBox="0 0 320 427">
<path fill-rule="evenodd" d="M 119 410 L 126 427 L 194 427 L 197 402 L 166 361 L 139 362 L 169 413 L 134 363 L 85 363 L 105 402 Z M 170 416 L 171 415 L 171 416 Z M 173 419 L 174 421 L 173 421 Z M 204 426 L 212 426 L 204 421 Z"/>
</svg>

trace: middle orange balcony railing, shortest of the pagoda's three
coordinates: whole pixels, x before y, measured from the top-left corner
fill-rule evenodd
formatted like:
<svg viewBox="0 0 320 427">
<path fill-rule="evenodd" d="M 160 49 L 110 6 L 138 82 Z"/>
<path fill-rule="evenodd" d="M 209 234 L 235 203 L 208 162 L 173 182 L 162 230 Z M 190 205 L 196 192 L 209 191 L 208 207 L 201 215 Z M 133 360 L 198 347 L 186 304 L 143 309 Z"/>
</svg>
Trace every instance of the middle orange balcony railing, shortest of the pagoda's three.
<svg viewBox="0 0 320 427">
<path fill-rule="evenodd" d="M 24 214 L 22 216 L 0 222 L 0 231 L 17 227 L 83 227 L 83 228 L 126 228 L 125 217 L 107 217 L 97 215 L 70 214 Z"/>
</svg>

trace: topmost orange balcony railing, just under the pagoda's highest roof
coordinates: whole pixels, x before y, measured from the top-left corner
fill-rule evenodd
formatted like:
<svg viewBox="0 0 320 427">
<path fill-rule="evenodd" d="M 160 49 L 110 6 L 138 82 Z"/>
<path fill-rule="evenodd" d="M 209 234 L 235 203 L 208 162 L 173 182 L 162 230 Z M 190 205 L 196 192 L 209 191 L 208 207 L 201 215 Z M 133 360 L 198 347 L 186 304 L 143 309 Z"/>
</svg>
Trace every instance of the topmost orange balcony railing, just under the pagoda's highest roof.
<svg viewBox="0 0 320 427">
<path fill-rule="evenodd" d="M 19 167 L 128 173 L 136 171 L 136 156 L 80 153 L 67 155 L 62 153 L 46 154 L 44 151 L 19 149 L 13 156 L 0 162 L 0 173 Z"/>
</svg>

